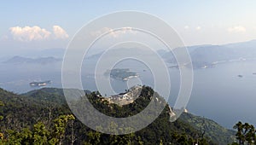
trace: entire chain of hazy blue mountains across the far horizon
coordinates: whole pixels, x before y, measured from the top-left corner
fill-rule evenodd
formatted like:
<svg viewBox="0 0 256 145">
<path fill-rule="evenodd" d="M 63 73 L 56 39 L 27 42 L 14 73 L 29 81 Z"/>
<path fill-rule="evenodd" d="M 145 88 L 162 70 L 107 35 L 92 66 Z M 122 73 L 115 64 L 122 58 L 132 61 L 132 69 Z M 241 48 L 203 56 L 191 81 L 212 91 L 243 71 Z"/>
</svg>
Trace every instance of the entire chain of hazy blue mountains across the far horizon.
<svg viewBox="0 0 256 145">
<path fill-rule="evenodd" d="M 251 40 L 236 44 L 224 44 L 224 45 L 195 45 L 188 46 L 189 55 L 193 63 L 194 68 L 206 68 L 214 67 L 218 63 L 224 63 L 229 61 L 246 61 L 256 59 L 256 40 Z M 137 55 L 137 50 L 134 48 L 123 48 L 114 50 L 114 55 Z M 152 55 L 147 49 L 140 49 L 141 55 Z M 174 49 L 176 51 L 178 49 Z M 52 63 L 55 61 L 61 61 L 65 53 L 65 49 L 43 49 L 38 51 L 27 52 L 26 57 L 15 55 L 13 58 L 4 63 Z M 104 53 L 104 49 L 101 52 L 87 55 L 85 58 L 89 60 L 98 60 Z M 166 49 L 158 49 L 158 55 L 160 55 L 166 62 L 172 63 L 175 66 L 177 64 L 175 57 L 171 51 Z M 49 56 L 50 55 L 50 56 Z M 32 58 L 36 56 L 37 58 Z M 5 59 L 6 60 L 6 59 Z M 1 60 L 3 61 L 3 59 Z"/>
</svg>

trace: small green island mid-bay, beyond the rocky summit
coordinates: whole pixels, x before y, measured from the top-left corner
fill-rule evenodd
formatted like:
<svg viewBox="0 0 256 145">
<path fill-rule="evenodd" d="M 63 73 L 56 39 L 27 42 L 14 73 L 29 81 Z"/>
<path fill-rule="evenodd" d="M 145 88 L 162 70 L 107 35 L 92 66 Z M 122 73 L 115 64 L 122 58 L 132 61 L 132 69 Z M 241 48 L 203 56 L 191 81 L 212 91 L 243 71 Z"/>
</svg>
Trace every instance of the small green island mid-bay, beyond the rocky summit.
<svg viewBox="0 0 256 145">
<path fill-rule="evenodd" d="M 108 70 L 105 74 L 109 74 L 111 78 L 121 79 L 123 81 L 128 80 L 129 78 L 137 78 L 138 74 L 131 72 L 129 68 L 115 68 Z"/>
</svg>

